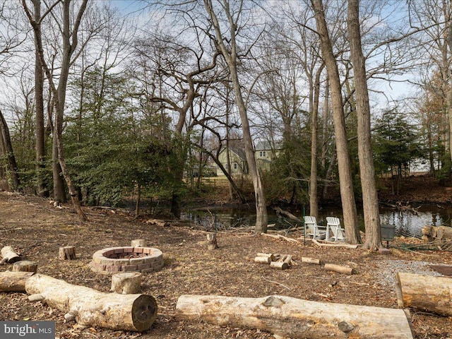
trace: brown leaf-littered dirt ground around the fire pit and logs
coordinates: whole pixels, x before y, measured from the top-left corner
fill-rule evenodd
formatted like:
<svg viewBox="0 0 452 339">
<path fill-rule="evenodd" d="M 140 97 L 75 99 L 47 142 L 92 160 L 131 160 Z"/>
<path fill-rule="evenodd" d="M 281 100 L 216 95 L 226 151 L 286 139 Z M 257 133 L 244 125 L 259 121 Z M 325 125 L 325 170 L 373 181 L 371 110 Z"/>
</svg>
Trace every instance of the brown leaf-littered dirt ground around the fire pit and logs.
<svg viewBox="0 0 452 339">
<path fill-rule="evenodd" d="M 255 329 L 228 328 L 202 322 L 178 321 L 174 317 L 180 295 L 227 295 L 264 297 L 286 295 L 319 302 L 396 308 L 393 275 L 397 271 L 434 274 L 430 263 L 452 264 L 448 251 L 400 249 L 417 239 L 396 239 L 391 254 L 363 249 L 320 248 L 282 239 L 256 236 L 252 232 L 219 232 L 219 248 L 208 251 L 206 234 L 188 225 L 172 222 L 159 227 L 135 220 L 114 210 L 85 208 L 89 221 L 81 223 L 70 205 L 54 208 L 35 196 L 0 192 L 0 246 L 11 245 L 23 258 L 37 261 L 38 272 L 108 292 L 110 278 L 88 267 L 93 253 L 110 246 L 128 246 L 145 239 L 160 249 L 165 266 L 143 274 L 143 292 L 153 295 L 158 315 L 145 333 L 79 328 L 64 320 L 64 311 L 42 302 L 29 302 L 25 293 L 0 293 L 0 320 L 49 320 L 57 324 L 58 338 L 274 338 Z M 297 239 L 300 234 L 291 233 Z M 75 261 L 58 258 L 59 247 L 76 246 Z M 295 265 L 273 270 L 254 263 L 257 252 L 291 254 Z M 355 267 L 344 275 L 301 262 L 301 257 L 321 258 L 327 263 Z M 422 269 L 421 269 L 421 268 Z M 0 270 L 11 269 L 8 264 Z M 410 309 L 415 338 L 452 338 L 452 317 Z"/>
</svg>

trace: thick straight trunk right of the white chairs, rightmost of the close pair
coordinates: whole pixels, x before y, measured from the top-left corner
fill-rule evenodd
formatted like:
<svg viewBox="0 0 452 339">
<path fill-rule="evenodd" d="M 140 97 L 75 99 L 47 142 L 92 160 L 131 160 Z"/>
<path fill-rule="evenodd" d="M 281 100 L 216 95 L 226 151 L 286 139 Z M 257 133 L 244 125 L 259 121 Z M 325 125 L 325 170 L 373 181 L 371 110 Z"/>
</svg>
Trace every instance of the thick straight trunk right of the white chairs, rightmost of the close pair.
<svg viewBox="0 0 452 339">
<path fill-rule="evenodd" d="M 380 234 L 379 198 L 376 191 L 374 157 L 371 149 L 370 106 L 367 90 L 366 64 L 361 47 L 359 31 L 359 0 L 349 0 L 347 10 L 348 36 L 355 74 L 355 93 L 358 121 L 358 157 L 361 177 L 362 204 L 366 242 L 364 248 L 375 249 L 382 246 Z M 359 233 L 358 233 L 359 237 Z"/>
</svg>

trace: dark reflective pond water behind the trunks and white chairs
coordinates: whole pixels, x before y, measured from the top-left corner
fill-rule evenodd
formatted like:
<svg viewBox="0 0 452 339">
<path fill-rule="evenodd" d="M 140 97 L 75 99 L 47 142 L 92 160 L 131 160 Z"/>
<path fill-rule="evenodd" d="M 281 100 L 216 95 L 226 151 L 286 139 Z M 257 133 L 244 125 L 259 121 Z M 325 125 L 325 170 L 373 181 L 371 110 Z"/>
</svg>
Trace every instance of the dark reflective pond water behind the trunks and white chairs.
<svg viewBox="0 0 452 339">
<path fill-rule="evenodd" d="M 412 211 L 397 210 L 396 208 L 381 207 L 380 222 L 382 225 L 393 225 L 396 236 L 422 237 L 422 227 L 426 225 L 451 226 L 452 206 L 427 205 L 413 206 L 417 213 Z M 307 210 L 290 211 L 297 218 L 302 219 L 307 215 Z M 343 214 L 340 208 L 321 208 L 319 211 L 320 224 L 326 225 L 326 217 L 335 216 L 343 222 Z M 191 222 L 196 228 L 206 230 L 225 230 L 231 227 L 249 227 L 256 222 L 256 212 L 252 208 L 222 208 L 200 207 L 184 211 L 182 220 Z M 362 210 L 358 210 L 359 225 L 364 231 Z M 287 229 L 294 225 L 293 220 L 278 218 L 275 210 L 268 209 L 268 224 L 275 224 L 276 229 Z M 301 225 L 299 225 L 301 226 Z"/>
</svg>

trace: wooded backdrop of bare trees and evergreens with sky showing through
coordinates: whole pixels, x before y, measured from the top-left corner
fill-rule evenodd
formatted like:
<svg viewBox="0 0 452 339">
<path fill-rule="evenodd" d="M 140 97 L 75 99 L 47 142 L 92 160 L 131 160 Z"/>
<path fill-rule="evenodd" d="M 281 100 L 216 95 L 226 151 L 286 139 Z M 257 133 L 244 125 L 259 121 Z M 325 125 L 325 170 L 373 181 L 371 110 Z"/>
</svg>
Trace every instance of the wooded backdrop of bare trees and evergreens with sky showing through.
<svg viewBox="0 0 452 339">
<path fill-rule="evenodd" d="M 362 201 L 364 246 L 381 247 L 376 174 L 396 192 L 424 162 L 451 184 L 452 6 L 280 2 L 7 1 L 0 188 L 70 198 L 81 220 L 126 196 L 179 218 L 219 172 L 230 199 L 252 186 L 265 233 L 268 201 L 316 217 L 338 185 L 346 241 Z"/>
</svg>

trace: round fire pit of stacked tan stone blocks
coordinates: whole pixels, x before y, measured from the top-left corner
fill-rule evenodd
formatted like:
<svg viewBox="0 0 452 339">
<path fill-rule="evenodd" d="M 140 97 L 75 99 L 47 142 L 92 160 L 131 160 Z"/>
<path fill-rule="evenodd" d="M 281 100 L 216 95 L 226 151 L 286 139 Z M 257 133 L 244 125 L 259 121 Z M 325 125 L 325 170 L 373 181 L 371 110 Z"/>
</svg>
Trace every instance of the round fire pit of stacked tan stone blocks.
<svg viewBox="0 0 452 339">
<path fill-rule="evenodd" d="M 109 247 L 93 254 L 91 270 L 100 273 L 150 273 L 163 267 L 163 254 L 152 247 Z"/>
</svg>

